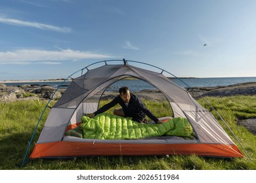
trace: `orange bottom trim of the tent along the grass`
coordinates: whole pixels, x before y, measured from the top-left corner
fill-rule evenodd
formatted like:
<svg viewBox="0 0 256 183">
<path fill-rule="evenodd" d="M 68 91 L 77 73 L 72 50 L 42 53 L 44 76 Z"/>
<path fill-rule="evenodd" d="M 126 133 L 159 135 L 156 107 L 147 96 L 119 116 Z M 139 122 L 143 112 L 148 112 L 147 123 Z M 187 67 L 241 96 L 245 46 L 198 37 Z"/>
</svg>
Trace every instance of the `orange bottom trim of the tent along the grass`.
<svg viewBox="0 0 256 183">
<path fill-rule="evenodd" d="M 242 158 L 234 144 L 131 144 L 59 141 L 36 144 L 30 158 L 74 156 L 165 156 L 182 154 Z"/>
</svg>

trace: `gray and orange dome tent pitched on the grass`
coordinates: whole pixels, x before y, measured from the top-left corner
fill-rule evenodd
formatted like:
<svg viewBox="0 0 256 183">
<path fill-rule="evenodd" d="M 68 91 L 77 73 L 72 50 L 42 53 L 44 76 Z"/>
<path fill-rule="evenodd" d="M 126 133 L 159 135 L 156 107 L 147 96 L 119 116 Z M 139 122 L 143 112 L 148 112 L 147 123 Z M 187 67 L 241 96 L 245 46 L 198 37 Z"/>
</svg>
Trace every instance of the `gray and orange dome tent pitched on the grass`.
<svg viewBox="0 0 256 183">
<path fill-rule="evenodd" d="M 110 64 L 111 61 L 113 60 L 99 61 L 96 63 L 104 63 L 104 65 L 95 69 L 89 69 L 91 66 L 89 65 L 80 70 L 81 76 L 72 80 L 66 92 L 51 107 L 30 159 L 167 154 L 243 157 L 242 152 L 228 137 L 213 115 L 194 100 L 184 88 L 163 75 L 163 72 L 167 71 L 149 65 L 160 69 L 161 72 L 159 73 L 130 64 L 141 63 L 137 61 L 123 59 L 121 64 Z M 95 63 L 92 65 L 95 65 Z M 83 74 L 85 69 L 87 69 L 87 72 Z M 68 78 L 71 78 L 71 76 Z M 65 136 L 67 129 L 79 125 L 83 114 L 95 112 L 98 109 L 99 101 L 109 86 L 127 77 L 143 80 L 160 90 L 173 110 L 173 117 L 186 118 L 192 125 L 194 133 L 196 133 L 196 139 L 99 140 Z M 28 150 L 24 161 L 27 154 Z"/>
</svg>

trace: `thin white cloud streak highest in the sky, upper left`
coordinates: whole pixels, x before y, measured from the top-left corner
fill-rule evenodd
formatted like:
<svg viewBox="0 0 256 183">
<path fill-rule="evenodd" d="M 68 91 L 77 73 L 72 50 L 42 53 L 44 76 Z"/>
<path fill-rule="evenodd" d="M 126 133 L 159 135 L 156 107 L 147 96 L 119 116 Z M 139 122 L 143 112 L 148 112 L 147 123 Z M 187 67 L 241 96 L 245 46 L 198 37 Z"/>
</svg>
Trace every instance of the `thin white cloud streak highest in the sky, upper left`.
<svg viewBox="0 0 256 183">
<path fill-rule="evenodd" d="M 61 32 L 61 33 L 69 33 L 72 31 L 72 29 L 70 27 L 58 27 L 55 25 L 41 24 L 38 22 L 28 22 L 28 21 L 12 19 L 12 18 L 3 18 L 3 17 L 0 17 L 0 23 L 16 25 L 16 26 L 34 27 L 37 29 L 43 29 L 43 30 L 48 30 L 48 31 L 57 31 L 57 32 Z"/>
</svg>

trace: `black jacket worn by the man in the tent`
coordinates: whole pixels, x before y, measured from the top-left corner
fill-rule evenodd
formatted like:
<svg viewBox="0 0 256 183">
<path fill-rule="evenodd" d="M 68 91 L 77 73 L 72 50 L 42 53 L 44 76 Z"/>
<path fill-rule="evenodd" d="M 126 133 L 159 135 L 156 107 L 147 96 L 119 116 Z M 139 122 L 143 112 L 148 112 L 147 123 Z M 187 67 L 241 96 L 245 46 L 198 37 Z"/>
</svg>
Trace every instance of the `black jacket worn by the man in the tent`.
<svg viewBox="0 0 256 183">
<path fill-rule="evenodd" d="M 94 112 L 95 116 L 97 114 L 105 112 L 106 110 L 114 107 L 118 103 L 123 108 L 125 117 L 130 117 L 132 118 L 132 120 L 137 122 L 143 122 L 144 118 L 148 116 L 154 122 L 158 122 L 158 118 L 156 118 L 156 116 L 154 116 L 154 114 L 152 114 L 152 112 L 150 112 L 150 110 L 148 110 L 144 106 L 144 104 L 140 101 L 140 99 L 136 95 L 133 95 L 132 93 L 130 93 L 130 95 L 131 95 L 131 98 L 128 106 L 125 105 L 125 102 L 123 101 L 123 99 L 121 99 L 120 95 L 118 95 L 110 103 L 104 105 L 103 107 L 99 108 L 96 112 Z"/>
</svg>

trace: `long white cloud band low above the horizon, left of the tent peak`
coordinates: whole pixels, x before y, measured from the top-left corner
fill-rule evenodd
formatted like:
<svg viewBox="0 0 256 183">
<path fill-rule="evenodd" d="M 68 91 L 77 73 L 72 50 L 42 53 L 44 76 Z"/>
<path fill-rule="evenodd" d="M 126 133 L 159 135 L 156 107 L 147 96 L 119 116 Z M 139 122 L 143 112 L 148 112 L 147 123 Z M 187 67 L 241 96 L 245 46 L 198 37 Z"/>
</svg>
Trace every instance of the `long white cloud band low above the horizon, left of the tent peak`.
<svg viewBox="0 0 256 183">
<path fill-rule="evenodd" d="M 104 54 L 94 54 L 92 52 L 76 51 L 71 49 L 66 50 L 15 50 L 12 52 L 0 52 L 0 64 L 31 64 L 33 62 L 43 64 L 58 64 L 59 62 L 74 59 L 89 59 L 89 58 L 112 58 L 112 56 Z"/>
</svg>

